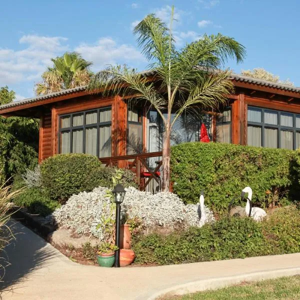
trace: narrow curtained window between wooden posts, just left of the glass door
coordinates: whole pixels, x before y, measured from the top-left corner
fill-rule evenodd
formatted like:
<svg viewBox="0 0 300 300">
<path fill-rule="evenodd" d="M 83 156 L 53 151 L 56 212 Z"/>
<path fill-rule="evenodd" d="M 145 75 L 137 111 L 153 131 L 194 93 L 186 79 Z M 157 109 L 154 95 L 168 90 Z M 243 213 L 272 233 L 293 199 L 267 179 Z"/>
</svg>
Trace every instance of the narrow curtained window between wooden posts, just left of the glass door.
<svg viewBox="0 0 300 300">
<path fill-rule="evenodd" d="M 142 151 L 142 120 L 141 111 L 128 108 L 127 114 L 127 154 L 137 154 Z"/>
</svg>

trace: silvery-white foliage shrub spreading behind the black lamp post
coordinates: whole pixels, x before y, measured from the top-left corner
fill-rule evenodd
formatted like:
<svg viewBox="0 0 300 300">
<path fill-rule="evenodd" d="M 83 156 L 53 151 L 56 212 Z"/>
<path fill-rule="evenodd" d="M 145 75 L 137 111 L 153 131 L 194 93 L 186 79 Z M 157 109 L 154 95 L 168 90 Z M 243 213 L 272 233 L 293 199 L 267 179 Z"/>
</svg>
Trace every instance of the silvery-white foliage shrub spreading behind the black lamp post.
<svg viewBox="0 0 300 300">
<path fill-rule="evenodd" d="M 103 240 L 105 233 L 98 224 L 101 216 L 107 217 L 110 213 L 107 208 L 110 199 L 104 197 L 105 191 L 105 187 L 96 187 L 91 192 L 72 195 L 64 205 L 47 216 L 47 222 L 56 223 L 79 234 L 94 235 Z M 205 222 L 214 220 L 212 212 L 206 206 L 200 218 L 199 204 L 185 205 L 171 192 L 152 194 L 128 187 L 121 207 L 123 216 L 139 218 L 147 232 L 151 232 L 157 226 L 175 228 L 181 224 L 183 227 L 201 227 Z"/>
</svg>

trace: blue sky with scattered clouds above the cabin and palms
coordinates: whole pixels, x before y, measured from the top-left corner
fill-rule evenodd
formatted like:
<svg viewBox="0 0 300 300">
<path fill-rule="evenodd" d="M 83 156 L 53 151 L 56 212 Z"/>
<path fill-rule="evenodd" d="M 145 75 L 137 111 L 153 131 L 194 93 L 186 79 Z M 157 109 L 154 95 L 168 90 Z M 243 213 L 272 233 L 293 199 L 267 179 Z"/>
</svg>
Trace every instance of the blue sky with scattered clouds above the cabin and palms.
<svg viewBox="0 0 300 300">
<path fill-rule="evenodd" d="M 235 72 L 263 67 L 300 86 L 297 0 L 16 0 L 1 4 L 0 86 L 17 99 L 34 95 L 34 83 L 50 58 L 76 50 L 93 61 L 93 71 L 106 64 L 127 63 L 144 69 L 133 25 L 147 13 L 169 19 L 175 6 L 177 46 L 203 33 L 221 32 L 246 47 Z"/>
</svg>

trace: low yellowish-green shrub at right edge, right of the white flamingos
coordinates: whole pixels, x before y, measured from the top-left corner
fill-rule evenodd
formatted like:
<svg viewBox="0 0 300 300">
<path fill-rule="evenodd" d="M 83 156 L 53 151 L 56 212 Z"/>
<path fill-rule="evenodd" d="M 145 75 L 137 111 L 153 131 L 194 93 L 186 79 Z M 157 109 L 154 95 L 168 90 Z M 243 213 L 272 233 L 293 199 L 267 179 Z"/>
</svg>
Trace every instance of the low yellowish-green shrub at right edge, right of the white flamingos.
<svg viewBox="0 0 300 300">
<path fill-rule="evenodd" d="M 273 252 L 300 252 L 300 211 L 295 206 L 277 208 L 262 224 Z"/>
</svg>

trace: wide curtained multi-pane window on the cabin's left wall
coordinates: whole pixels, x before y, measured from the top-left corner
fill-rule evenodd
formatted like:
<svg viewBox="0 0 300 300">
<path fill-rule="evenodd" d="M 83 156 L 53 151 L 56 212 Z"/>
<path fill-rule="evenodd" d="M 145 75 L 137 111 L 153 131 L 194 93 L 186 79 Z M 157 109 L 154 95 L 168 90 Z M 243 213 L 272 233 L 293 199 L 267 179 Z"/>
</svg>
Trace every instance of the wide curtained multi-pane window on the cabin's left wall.
<svg viewBox="0 0 300 300">
<path fill-rule="evenodd" d="M 111 107 L 59 116 L 59 153 L 111 155 Z"/>
</svg>

